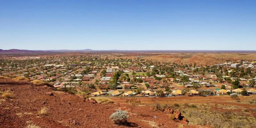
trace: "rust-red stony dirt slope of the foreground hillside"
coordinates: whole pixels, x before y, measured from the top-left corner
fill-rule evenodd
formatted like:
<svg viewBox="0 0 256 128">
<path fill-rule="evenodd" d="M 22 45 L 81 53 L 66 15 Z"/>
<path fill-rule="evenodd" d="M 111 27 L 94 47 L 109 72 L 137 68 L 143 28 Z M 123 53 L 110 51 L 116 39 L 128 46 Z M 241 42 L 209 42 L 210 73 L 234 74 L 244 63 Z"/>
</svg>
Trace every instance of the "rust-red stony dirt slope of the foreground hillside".
<svg viewBox="0 0 256 128">
<path fill-rule="evenodd" d="M 164 112 L 153 111 L 150 107 L 137 107 L 129 112 L 129 125 L 117 125 L 109 116 L 125 104 L 93 104 L 76 95 L 53 91 L 50 87 L 35 86 L 30 82 L 0 79 L 0 91 L 11 90 L 13 99 L 0 102 L 1 128 L 24 128 L 29 122 L 42 128 L 125 128 L 153 127 L 148 121 L 160 128 L 177 128 L 180 122 L 169 119 Z M 52 92 L 53 96 L 49 93 Z M 3 101 L 5 100 L 5 101 Z M 48 115 L 39 115 L 38 111 L 46 107 Z M 156 116 L 156 118 L 153 118 Z M 69 123 L 76 120 L 76 124 Z M 196 128 L 196 125 L 185 125 L 185 128 Z"/>
</svg>

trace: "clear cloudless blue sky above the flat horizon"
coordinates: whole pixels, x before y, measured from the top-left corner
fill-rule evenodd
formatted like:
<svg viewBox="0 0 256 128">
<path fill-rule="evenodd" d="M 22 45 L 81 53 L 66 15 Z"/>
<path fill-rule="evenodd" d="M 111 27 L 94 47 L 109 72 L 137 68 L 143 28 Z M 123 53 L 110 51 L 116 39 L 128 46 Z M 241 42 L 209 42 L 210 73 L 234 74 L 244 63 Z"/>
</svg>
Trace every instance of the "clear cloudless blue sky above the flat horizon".
<svg viewBox="0 0 256 128">
<path fill-rule="evenodd" d="M 256 1 L 0 0 L 0 49 L 256 50 Z"/>
</svg>

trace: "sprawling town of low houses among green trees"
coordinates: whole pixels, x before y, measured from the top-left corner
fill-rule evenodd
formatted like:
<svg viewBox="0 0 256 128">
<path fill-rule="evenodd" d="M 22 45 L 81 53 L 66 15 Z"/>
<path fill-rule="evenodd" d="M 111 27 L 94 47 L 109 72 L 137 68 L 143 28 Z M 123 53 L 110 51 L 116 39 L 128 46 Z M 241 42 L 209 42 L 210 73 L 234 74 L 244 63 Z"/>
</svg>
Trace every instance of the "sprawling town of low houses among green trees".
<svg viewBox="0 0 256 128">
<path fill-rule="evenodd" d="M 256 60 L 215 64 L 102 59 L 103 55 L 2 59 L 1 76 L 49 83 L 90 96 L 219 96 L 256 94 Z"/>
</svg>

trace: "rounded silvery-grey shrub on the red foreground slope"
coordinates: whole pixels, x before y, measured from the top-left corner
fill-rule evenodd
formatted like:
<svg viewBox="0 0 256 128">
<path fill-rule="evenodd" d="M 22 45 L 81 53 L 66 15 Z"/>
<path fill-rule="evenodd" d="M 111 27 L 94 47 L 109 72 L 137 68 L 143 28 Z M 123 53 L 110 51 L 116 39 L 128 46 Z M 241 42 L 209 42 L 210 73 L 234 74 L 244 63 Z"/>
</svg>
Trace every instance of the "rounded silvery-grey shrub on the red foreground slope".
<svg viewBox="0 0 256 128">
<path fill-rule="evenodd" d="M 122 111 L 120 109 L 116 110 L 109 119 L 111 119 L 115 124 L 125 124 L 127 123 L 127 119 L 129 115 L 127 115 L 127 111 Z"/>
</svg>

